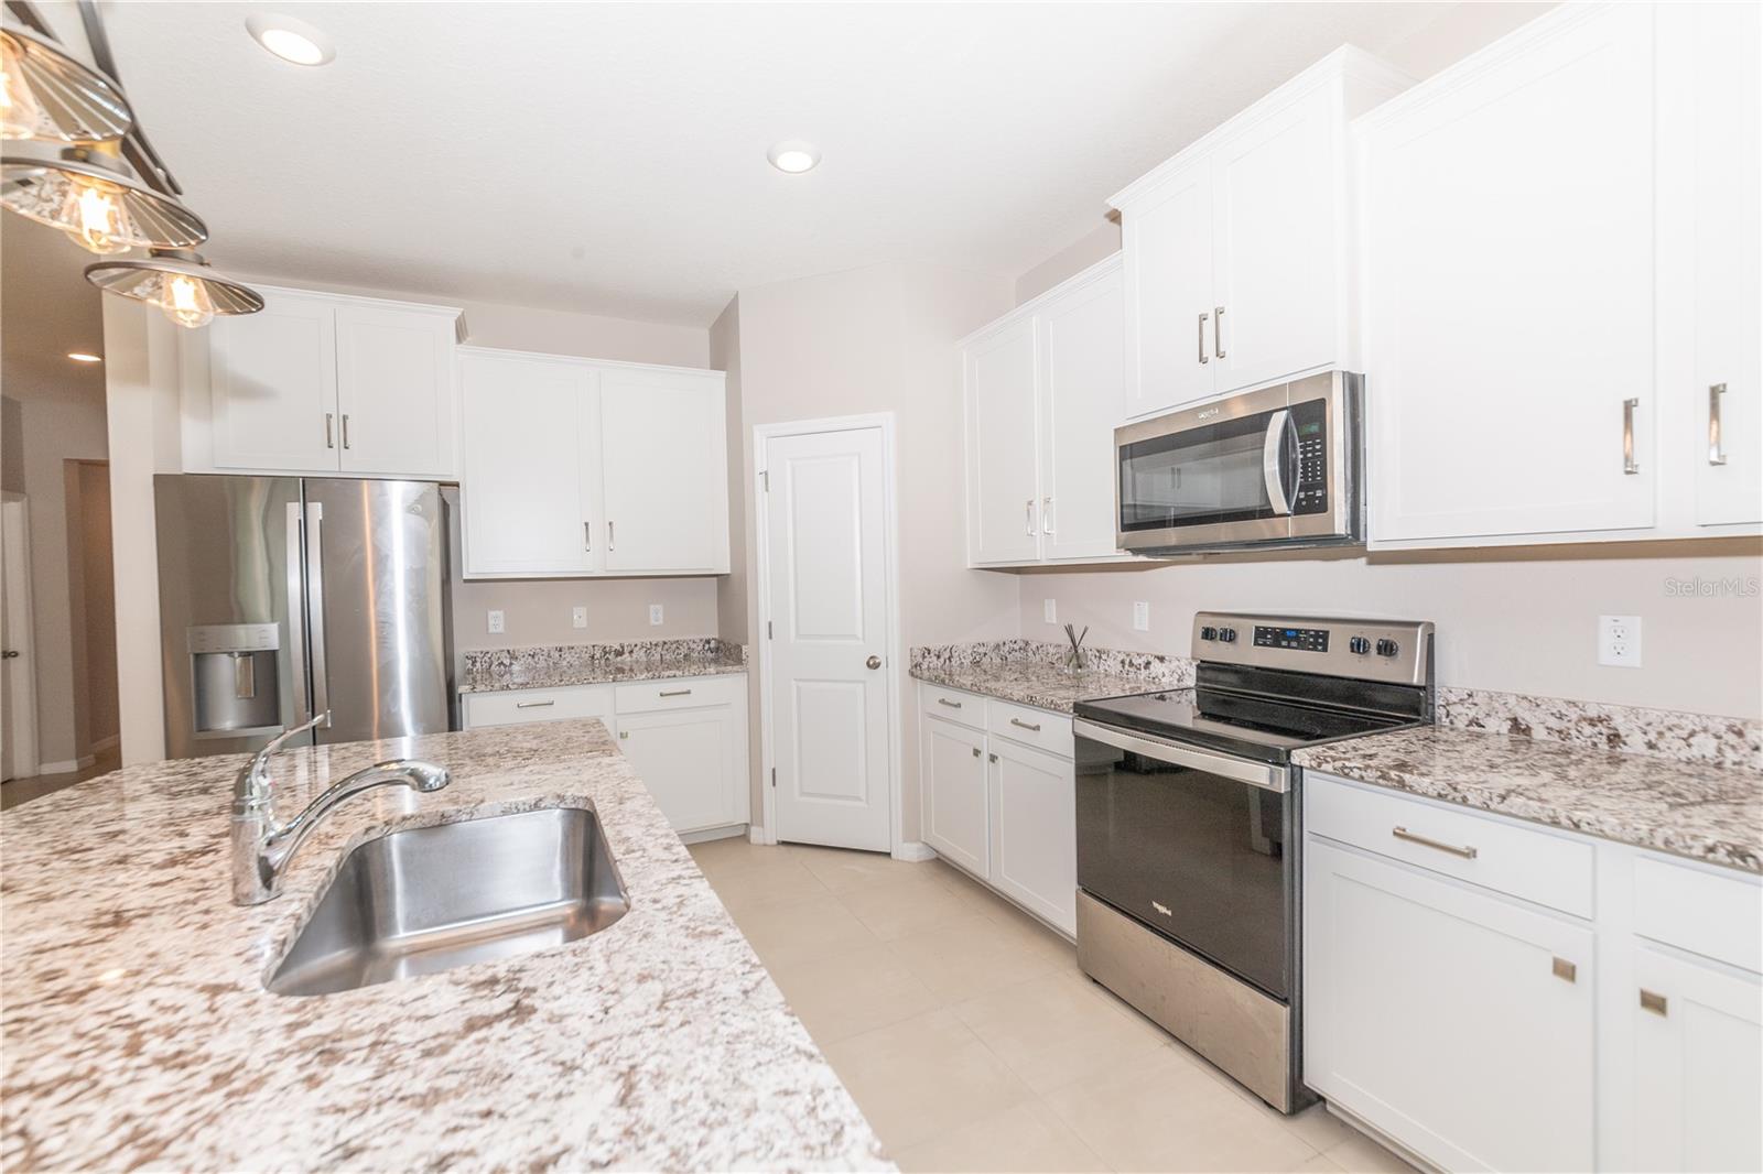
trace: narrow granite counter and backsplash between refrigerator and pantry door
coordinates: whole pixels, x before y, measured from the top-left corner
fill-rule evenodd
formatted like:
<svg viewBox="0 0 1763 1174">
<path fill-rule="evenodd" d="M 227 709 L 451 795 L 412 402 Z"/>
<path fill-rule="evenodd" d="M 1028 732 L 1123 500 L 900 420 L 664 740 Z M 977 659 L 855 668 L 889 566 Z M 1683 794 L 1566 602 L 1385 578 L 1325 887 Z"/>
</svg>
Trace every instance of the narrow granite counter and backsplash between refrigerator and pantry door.
<svg viewBox="0 0 1763 1174">
<path fill-rule="evenodd" d="M 460 693 L 557 689 L 577 684 L 721 677 L 748 672 L 746 645 L 726 643 L 714 636 L 481 649 L 467 652 L 464 659 Z"/>
</svg>

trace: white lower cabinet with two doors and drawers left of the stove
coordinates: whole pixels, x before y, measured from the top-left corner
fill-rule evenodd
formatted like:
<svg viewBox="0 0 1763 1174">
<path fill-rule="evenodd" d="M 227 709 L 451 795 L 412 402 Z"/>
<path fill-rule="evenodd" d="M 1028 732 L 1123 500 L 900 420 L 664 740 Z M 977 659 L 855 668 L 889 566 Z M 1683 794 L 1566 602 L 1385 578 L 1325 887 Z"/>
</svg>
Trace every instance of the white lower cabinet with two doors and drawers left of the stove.
<svg viewBox="0 0 1763 1174">
<path fill-rule="evenodd" d="M 1060 933 L 1075 934 L 1070 717 L 931 684 L 919 686 L 919 702 L 924 841 Z M 1003 728 L 1021 728 L 1035 746 L 998 733 Z"/>
</svg>

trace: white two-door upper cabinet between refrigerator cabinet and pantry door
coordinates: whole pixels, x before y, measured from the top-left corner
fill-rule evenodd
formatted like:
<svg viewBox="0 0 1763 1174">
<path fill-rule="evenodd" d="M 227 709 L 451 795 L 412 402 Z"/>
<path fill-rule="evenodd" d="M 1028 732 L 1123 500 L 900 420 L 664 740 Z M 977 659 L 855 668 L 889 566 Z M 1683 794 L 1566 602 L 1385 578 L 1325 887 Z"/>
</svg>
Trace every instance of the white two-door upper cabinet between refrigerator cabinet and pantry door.
<svg viewBox="0 0 1763 1174">
<path fill-rule="evenodd" d="M 458 354 L 469 578 L 728 573 L 723 372 Z"/>
</svg>

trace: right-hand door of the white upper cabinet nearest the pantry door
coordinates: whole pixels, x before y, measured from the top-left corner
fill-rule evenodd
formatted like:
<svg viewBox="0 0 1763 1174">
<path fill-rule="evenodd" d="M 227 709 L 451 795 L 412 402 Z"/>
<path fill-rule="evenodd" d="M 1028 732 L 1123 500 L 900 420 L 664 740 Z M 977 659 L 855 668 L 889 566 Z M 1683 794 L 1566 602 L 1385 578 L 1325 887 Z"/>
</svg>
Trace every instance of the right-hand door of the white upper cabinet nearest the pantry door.
<svg viewBox="0 0 1763 1174">
<path fill-rule="evenodd" d="M 723 377 L 605 367 L 608 571 L 728 571 Z"/>
</svg>

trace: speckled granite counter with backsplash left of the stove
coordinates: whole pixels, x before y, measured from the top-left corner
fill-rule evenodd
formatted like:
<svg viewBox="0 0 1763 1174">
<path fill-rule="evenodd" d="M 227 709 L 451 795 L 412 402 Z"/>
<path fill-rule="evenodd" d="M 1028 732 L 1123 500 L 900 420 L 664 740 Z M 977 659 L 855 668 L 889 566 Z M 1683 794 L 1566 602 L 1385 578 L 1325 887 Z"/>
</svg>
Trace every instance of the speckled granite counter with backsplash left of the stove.
<svg viewBox="0 0 1763 1174">
<path fill-rule="evenodd" d="M 1084 649 L 1090 666 L 1072 673 L 1065 652 L 1065 645 L 1033 640 L 933 645 L 911 649 L 911 675 L 1060 714 L 1098 696 L 1194 684 L 1194 661 L 1186 658 Z"/>
</svg>

